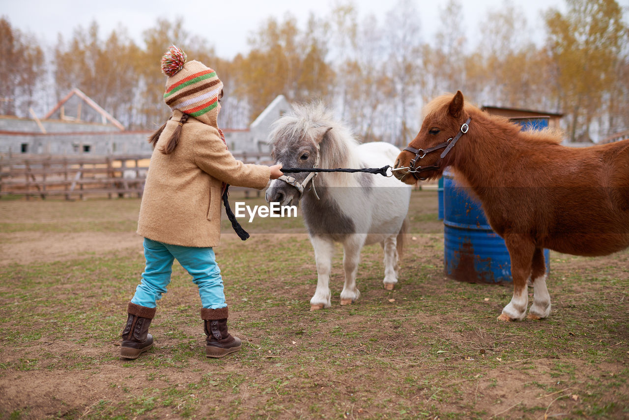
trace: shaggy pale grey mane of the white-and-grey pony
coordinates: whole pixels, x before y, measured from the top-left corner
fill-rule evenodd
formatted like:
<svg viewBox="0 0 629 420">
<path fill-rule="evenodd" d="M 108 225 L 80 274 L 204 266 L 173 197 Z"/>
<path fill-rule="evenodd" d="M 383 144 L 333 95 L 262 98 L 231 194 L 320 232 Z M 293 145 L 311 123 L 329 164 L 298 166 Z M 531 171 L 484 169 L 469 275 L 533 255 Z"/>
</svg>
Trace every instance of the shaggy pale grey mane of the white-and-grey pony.
<svg viewBox="0 0 629 420">
<path fill-rule="evenodd" d="M 358 159 L 354 149 L 358 142 L 352 132 L 335 120 L 331 110 L 321 101 L 293 105 L 291 111 L 271 125 L 269 144 L 284 140 L 297 146 L 305 142 L 315 144 L 326 133 L 321 142 L 321 167 L 356 167 Z"/>
</svg>

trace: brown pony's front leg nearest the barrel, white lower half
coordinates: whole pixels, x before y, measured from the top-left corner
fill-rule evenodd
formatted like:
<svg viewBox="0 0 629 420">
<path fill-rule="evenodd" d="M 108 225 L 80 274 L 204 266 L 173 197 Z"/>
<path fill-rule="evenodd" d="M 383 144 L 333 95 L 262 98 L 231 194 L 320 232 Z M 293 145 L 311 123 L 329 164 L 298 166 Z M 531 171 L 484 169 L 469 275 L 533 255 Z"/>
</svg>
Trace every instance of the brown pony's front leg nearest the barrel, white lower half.
<svg viewBox="0 0 629 420">
<path fill-rule="evenodd" d="M 531 263 L 535 245 L 526 237 L 508 234 L 504 236 L 504 243 L 511 256 L 511 277 L 513 277 L 513 297 L 511 302 L 503 308 L 499 321 L 522 321 L 526 315 L 528 305 L 528 278 L 531 274 Z"/>
</svg>

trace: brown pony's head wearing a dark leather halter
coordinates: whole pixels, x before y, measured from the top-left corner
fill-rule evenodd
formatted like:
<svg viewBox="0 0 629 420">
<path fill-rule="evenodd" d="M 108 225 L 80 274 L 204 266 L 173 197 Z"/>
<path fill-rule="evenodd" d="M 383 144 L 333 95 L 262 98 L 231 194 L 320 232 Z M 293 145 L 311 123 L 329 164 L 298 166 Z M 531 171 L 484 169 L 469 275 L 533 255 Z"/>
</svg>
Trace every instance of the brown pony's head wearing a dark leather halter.
<svg viewBox="0 0 629 420">
<path fill-rule="evenodd" d="M 398 170 L 393 171 L 396 178 L 413 185 L 418 179 L 441 176 L 455 152 L 447 149 L 448 144 L 459 134 L 468 116 L 460 91 L 454 97 L 443 95 L 430 101 L 425 108 L 420 132 L 409 143 L 408 149 L 416 151 L 404 149 L 396 159 L 395 169 Z M 448 152 L 442 158 L 444 150 Z"/>
</svg>

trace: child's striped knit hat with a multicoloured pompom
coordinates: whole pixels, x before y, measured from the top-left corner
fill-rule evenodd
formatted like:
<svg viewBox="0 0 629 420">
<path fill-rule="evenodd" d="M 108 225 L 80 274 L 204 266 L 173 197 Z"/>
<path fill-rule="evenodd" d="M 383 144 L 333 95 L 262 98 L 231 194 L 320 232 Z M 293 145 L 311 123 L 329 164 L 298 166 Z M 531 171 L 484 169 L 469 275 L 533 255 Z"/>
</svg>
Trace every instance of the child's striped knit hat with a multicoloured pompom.
<svg viewBox="0 0 629 420">
<path fill-rule="evenodd" d="M 218 128 L 218 95 L 223 89 L 216 72 L 187 56 L 174 45 L 162 57 L 162 73 L 168 76 L 164 102 L 197 120 Z"/>
</svg>

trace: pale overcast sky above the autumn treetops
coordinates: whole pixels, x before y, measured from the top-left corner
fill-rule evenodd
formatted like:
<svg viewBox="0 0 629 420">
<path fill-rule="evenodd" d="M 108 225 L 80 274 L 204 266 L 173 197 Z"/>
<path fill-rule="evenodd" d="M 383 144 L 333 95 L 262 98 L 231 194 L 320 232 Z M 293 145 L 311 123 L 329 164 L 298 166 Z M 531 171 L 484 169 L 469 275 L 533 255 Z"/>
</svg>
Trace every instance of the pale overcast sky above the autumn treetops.
<svg viewBox="0 0 629 420">
<path fill-rule="evenodd" d="M 564 0 L 511 1 L 523 11 L 538 37 L 542 33 L 540 11 L 550 7 L 565 10 Z M 354 0 L 360 16 L 374 14 L 380 18 L 394 3 L 394 0 Z M 438 21 L 439 11 L 446 3 L 445 0 L 416 0 L 424 40 L 430 40 L 439 25 L 447 25 Z M 487 11 L 501 8 L 504 0 L 461 0 L 460 3 L 465 30 L 470 40 L 474 40 L 478 22 Z M 628 3 L 629 0 L 620 0 L 622 5 Z M 231 59 L 239 52 L 248 51 L 248 36 L 269 16 L 282 19 L 290 11 L 303 28 L 311 11 L 316 16 L 325 16 L 334 4 L 337 4 L 335 0 L 0 0 L 0 14 L 8 17 L 14 27 L 33 33 L 51 45 L 56 42 L 58 33 L 68 39 L 74 28 L 79 25 L 86 28 L 93 20 L 99 23 L 101 38 L 121 23 L 131 37 L 141 43 L 142 31 L 154 26 L 157 18 L 174 20 L 181 16 L 190 33 L 206 38 L 219 57 Z"/>
</svg>

